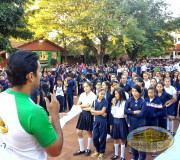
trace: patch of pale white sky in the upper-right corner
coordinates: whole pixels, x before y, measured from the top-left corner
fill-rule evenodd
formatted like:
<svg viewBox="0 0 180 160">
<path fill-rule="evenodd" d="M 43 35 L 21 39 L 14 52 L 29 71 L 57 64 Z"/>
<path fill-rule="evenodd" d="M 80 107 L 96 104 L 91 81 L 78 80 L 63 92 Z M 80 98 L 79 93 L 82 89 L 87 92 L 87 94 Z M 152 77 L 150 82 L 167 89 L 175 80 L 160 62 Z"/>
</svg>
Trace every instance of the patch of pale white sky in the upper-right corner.
<svg viewBox="0 0 180 160">
<path fill-rule="evenodd" d="M 168 9 L 173 12 L 173 17 L 180 17 L 180 0 L 164 0 L 169 4 Z"/>
</svg>

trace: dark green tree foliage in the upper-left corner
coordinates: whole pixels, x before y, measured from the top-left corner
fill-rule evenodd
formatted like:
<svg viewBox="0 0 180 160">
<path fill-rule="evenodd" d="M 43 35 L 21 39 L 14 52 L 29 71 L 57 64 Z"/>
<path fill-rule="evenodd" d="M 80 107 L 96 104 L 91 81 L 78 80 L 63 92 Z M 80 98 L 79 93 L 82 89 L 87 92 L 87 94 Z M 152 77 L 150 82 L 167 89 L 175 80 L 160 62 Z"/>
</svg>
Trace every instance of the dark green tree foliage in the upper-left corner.
<svg viewBox="0 0 180 160">
<path fill-rule="evenodd" d="M 29 39 L 32 33 L 26 29 L 24 18 L 27 0 L 0 0 L 0 51 L 12 51 L 9 38 Z"/>
</svg>

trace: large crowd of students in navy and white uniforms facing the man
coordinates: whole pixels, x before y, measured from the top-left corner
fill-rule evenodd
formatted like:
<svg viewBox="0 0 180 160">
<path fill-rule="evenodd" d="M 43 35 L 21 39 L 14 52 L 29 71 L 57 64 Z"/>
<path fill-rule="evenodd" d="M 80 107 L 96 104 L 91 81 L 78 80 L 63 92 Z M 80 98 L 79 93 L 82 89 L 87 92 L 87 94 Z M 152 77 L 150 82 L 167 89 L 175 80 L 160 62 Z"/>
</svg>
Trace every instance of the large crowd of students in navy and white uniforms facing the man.
<svg viewBox="0 0 180 160">
<path fill-rule="evenodd" d="M 125 159 L 127 135 L 142 126 L 158 126 L 174 133 L 174 119 L 178 118 L 180 72 L 179 62 L 151 63 L 141 61 L 109 62 L 97 65 L 60 65 L 52 71 L 43 69 L 40 87 L 31 93 L 32 100 L 46 109 L 44 97 L 55 93 L 60 111 L 70 110 L 73 98 L 82 113 L 77 122 L 80 149 L 74 156 L 104 158 L 106 139 L 114 139 L 115 154 L 111 160 Z M 8 88 L 6 73 L 1 70 L 0 91 Z M 88 133 L 84 148 L 83 131 Z M 91 153 L 91 142 L 96 150 Z M 121 154 L 119 156 L 119 143 Z M 133 160 L 146 159 L 145 152 L 131 149 Z M 156 156 L 153 153 L 152 156 Z M 140 158 L 139 158 L 140 157 Z"/>
</svg>

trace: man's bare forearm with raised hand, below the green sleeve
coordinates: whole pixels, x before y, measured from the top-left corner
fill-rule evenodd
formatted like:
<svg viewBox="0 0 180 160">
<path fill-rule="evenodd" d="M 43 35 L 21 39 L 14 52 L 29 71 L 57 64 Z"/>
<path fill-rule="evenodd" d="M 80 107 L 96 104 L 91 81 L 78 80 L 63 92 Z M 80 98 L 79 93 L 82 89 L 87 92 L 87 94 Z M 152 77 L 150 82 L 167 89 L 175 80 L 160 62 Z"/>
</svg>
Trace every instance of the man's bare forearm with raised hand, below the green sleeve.
<svg viewBox="0 0 180 160">
<path fill-rule="evenodd" d="M 46 98 L 46 106 L 51 116 L 51 124 L 54 127 L 55 132 L 58 135 L 57 140 L 50 146 L 45 147 L 44 150 L 51 157 L 57 157 L 61 154 L 63 147 L 63 132 L 59 122 L 59 102 L 56 99 L 55 94 L 51 94 L 51 103 Z"/>
</svg>

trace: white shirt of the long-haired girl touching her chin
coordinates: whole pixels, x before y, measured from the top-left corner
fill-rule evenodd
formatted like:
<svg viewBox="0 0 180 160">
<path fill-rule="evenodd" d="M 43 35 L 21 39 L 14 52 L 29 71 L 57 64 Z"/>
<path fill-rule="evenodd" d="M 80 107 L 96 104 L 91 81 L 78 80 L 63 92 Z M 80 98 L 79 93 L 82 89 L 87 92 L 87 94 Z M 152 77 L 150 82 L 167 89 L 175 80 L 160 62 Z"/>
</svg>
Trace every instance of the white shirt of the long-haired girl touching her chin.
<svg viewBox="0 0 180 160">
<path fill-rule="evenodd" d="M 118 102 L 115 106 L 112 106 L 111 113 L 114 118 L 125 118 L 124 115 L 125 103 L 126 101 L 122 101 L 120 104 Z"/>
</svg>

